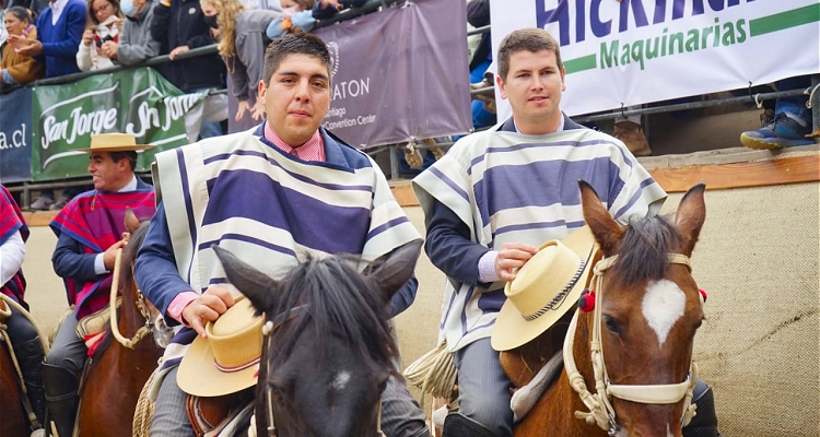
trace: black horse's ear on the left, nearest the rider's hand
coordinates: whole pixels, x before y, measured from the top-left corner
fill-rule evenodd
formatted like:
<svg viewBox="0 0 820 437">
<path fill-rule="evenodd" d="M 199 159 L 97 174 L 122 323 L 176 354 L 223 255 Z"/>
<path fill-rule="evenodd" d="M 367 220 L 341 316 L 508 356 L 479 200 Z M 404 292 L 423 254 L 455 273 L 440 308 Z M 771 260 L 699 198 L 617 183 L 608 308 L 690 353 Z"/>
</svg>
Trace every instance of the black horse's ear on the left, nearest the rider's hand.
<svg viewBox="0 0 820 437">
<path fill-rule="evenodd" d="M 276 303 L 276 288 L 279 283 L 267 274 L 254 269 L 245 261 L 216 245 L 211 246 L 225 269 L 227 280 L 242 292 L 258 311 L 269 311 Z"/>
</svg>

